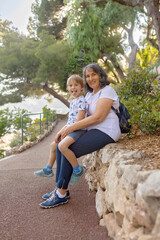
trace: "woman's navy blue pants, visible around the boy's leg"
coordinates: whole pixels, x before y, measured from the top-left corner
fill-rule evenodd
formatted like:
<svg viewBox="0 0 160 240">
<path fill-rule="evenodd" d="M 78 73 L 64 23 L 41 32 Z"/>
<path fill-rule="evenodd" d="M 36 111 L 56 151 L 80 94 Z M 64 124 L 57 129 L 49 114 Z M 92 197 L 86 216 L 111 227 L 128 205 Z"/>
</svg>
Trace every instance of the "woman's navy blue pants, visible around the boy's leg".
<svg viewBox="0 0 160 240">
<path fill-rule="evenodd" d="M 86 155 L 88 153 L 99 150 L 109 143 L 115 141 L 107 134 L 101 132 L 98 129 L 91 129 L 81 136 L 75 143 L 70 146 L 70 149 L 74 152 L 77 158 Z M 58 146 L 56 148 L 56 182 L 57 187 L 67 189 L 72 175 L 72 165 L 59 151 Z"/>
</svg>

